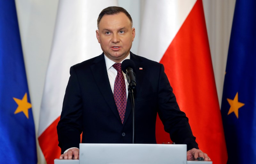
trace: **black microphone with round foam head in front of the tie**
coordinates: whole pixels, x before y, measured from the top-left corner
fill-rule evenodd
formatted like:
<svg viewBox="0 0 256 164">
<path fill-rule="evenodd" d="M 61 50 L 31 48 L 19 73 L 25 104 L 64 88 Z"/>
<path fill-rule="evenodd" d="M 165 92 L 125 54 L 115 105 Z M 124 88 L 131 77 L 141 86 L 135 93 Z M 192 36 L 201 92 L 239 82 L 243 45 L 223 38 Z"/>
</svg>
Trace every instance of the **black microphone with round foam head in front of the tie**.
<svg viewBox="0 0 256 164">
<path fill-rule="evenodd" d="M 131 59 L 125 59 L 121 64 L 122 71 L 126 74 L 126 79 L 132 89 L 136 88 L 135 63 Z M 133 71 L 134 70 L 134 71 Z"/>
</svg>

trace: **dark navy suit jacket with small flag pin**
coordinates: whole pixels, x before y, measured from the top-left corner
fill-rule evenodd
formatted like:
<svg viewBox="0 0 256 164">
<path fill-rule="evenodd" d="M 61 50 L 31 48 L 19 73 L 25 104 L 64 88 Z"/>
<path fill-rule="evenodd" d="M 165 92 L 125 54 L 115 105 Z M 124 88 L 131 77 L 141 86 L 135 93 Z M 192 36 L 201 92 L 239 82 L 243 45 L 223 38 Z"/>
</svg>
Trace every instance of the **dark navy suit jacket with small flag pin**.
<svg viewBox="0 0 256 164">
<path fill-rule="evenodd" d="M 163 64 L 131 54 L 136 65 L 135 143 L 156 143 L 157 113 L 176 144 L 198 148 L 185 113 L 180 111 Z M 142 69 L 140 69 L 142 68 Z M 57 126 L 61 153 L 82 143 L 132 143 L 128 94 L 124 123 L 111 90 L 104 54 L 70 68 L 70 78 Z"/>
</svg>

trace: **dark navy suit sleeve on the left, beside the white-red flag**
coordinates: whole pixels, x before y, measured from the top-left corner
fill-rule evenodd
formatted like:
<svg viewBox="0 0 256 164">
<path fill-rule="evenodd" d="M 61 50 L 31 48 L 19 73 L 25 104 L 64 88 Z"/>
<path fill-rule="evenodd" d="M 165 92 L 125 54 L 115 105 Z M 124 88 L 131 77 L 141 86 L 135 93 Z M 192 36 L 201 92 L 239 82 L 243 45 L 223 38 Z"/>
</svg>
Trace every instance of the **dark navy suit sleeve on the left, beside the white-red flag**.
<svg viewBox="0 0 256 164">
<path fill-rule="evenodd" d="M 61 154 L 71 147 L 79 147 L 80 134 L 82 133 L 82 101 L 77 74 L 73 67 L 70 68 L 70 77 L 63 100 L 60 121 L 57 133 Z"/>
</svg>

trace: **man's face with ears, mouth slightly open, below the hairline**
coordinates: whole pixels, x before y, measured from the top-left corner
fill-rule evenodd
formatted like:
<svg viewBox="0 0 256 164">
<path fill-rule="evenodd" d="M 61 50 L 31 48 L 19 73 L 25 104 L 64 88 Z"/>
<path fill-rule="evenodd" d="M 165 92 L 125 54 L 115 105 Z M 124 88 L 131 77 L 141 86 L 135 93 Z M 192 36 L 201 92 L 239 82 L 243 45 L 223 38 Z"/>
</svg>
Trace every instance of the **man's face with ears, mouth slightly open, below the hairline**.
<svg viewBox="0 0 256 164">
<path fill-rule="evenodd" d="M 128 54 L 135 37 L 135 29 L 130 19 L 120 12 L 115 15 L 104 15 L 99 23 L 96 36 L 104 54 L 112 61 L 119 63 Z"/>
</svg>

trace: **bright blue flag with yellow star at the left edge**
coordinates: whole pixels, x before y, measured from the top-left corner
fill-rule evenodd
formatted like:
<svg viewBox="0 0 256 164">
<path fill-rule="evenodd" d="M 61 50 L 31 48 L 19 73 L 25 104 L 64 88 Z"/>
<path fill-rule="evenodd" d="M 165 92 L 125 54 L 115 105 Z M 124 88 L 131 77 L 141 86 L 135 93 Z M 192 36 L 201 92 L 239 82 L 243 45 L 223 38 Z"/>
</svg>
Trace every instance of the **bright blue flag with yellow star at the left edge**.
<svg viewBox="0 0 256 164">
<path fill-rule="evenodd" d="M 35 125 L 14 0 L 0 0 L 0 163 L 37 163 Z"/>
</svg>

